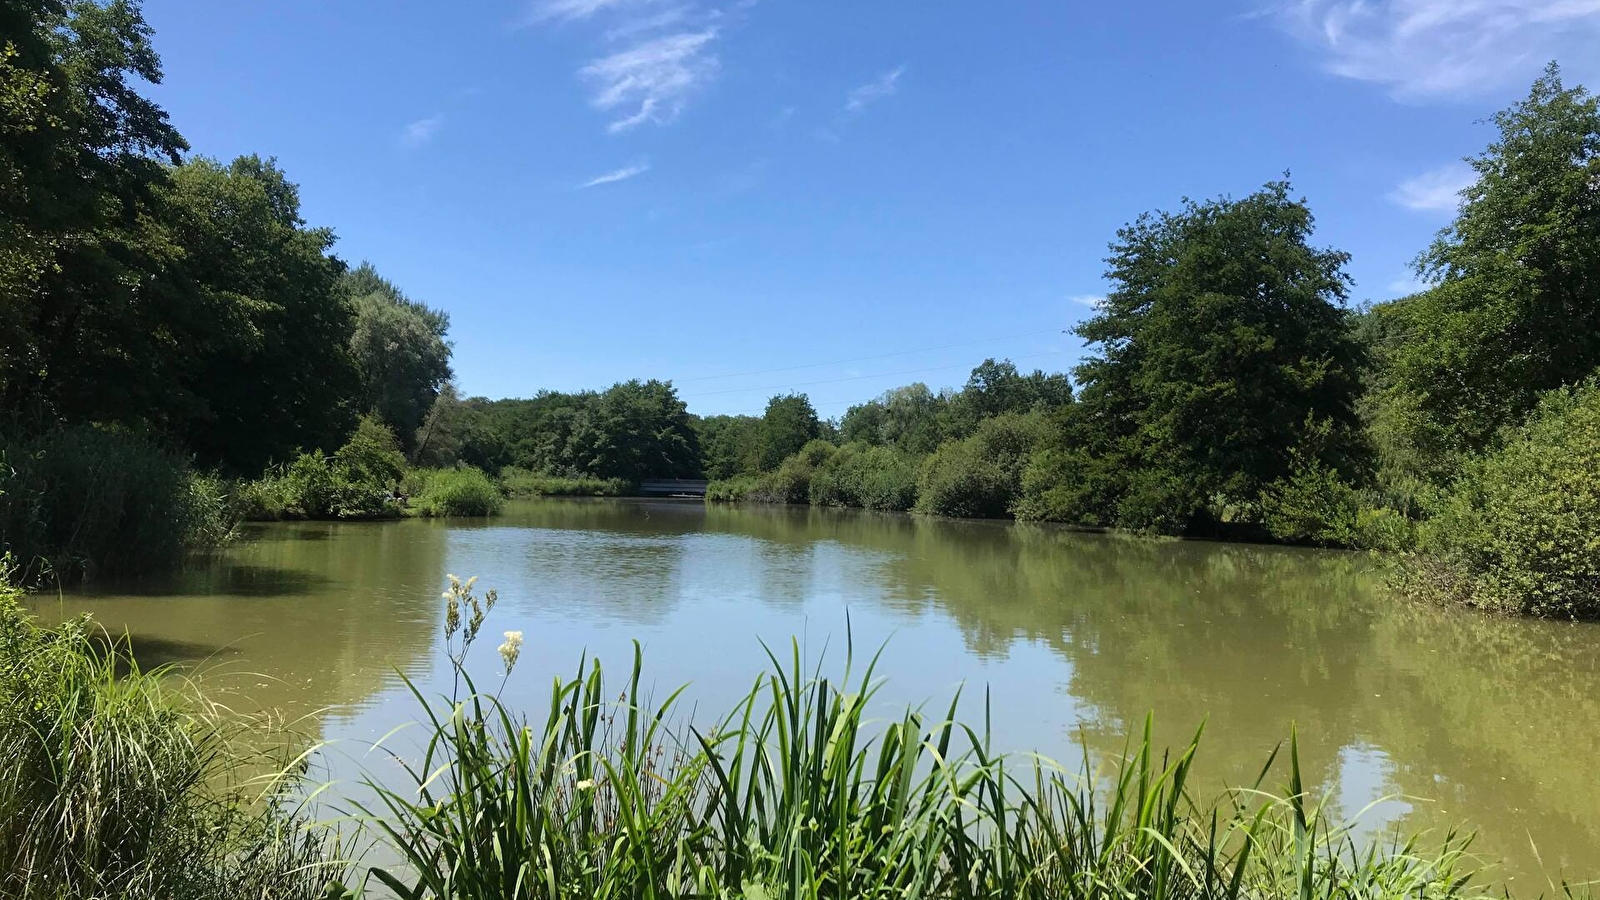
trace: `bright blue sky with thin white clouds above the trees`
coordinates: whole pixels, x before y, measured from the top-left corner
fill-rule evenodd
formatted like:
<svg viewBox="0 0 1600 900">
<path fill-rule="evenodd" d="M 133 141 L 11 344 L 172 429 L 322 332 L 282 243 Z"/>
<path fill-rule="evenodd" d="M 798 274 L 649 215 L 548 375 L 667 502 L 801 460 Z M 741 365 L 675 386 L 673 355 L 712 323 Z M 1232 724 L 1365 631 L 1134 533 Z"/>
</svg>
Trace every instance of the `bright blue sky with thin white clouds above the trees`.
<svg viewBox="0 0 1600 900">
<path fill-rule="evenodd" d="M 197 152 L 274 155 L 451 314 L 464 394 L 672 378 L 824 416 L 986 356 L 1066 370 L 1139 211 L 1291 171 L 1405 293 L 1482 120 L 1600 0 L 147 0 Z"/>
</svg>

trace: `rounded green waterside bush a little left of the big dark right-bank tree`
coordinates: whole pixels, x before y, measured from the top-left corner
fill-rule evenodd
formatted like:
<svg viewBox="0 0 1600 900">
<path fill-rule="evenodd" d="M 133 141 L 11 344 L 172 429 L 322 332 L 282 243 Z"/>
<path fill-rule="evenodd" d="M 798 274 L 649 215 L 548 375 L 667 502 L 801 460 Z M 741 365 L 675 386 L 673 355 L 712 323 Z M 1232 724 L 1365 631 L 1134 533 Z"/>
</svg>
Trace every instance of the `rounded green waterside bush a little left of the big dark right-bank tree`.
<svg viewBox="0 0 1600 900">
<path fill-rule="evenodd" d="M 1011 516 L 1022 469 L 1043 436 L 1037 415 L 984 420 L 971 437 L 946 440 L 923 460 L 917 476 L 917 512 L 934 516 Z"/>
</svg>

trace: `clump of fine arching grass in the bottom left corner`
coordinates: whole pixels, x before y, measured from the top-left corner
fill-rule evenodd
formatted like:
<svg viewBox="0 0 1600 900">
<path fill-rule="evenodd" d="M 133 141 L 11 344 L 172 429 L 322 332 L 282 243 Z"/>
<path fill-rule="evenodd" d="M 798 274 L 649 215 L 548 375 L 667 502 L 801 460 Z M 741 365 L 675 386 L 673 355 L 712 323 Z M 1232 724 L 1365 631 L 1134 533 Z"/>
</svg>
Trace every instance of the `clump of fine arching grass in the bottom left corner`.
<svg viewBox="0 0 1600 900">
<path fill-rule="evenodd" d="M 0 895 L 320 897 L 322 839 L 242 781 L 264 761 L 227 716 L 88 620 L 37 626 L 0 581 Z"/>
</svg>

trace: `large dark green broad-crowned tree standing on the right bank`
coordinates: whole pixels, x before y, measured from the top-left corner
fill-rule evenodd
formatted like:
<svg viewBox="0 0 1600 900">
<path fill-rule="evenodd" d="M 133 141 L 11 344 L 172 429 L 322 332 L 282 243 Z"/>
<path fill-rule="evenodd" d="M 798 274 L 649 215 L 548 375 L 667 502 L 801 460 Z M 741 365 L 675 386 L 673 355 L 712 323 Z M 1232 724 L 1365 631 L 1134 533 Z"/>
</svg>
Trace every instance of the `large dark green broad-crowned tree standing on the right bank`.
<svg viewBox="0 0 1600 900">
<path fill-rule="evenodd" d="M 1117 460 L 1099 517 L 1187 530 L 1248 511 L 1314 458 L 1354 472 L 1362 351 L 1344 309 L 1347 255 L 1310 245 L 1288 181 L 1139 216 L 1112 243 L 1114 282 L 1077 327 L 1077 440 Z"/>
</svg>

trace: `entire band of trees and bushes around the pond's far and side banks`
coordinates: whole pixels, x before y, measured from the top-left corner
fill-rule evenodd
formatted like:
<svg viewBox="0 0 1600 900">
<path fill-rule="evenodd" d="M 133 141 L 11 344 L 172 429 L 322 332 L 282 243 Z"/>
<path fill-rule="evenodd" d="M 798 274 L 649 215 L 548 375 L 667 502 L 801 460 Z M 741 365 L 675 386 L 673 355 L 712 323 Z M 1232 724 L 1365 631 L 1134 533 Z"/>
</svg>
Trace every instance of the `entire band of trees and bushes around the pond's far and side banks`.
<svg viewBox="0 0 1600 900">
<path fill-rule="evenodd" d="M 1352 306 L 1285 176 L 1120 229 L 1070 378 L 986 360 L 834 421 L 802 394 L 696 416 L 656 380 L 461 399 L 443 311 L 338 258 L 274 160 L 192 155 L 141 96 L 162 72 L 136 3 L 5 0 L 0 24 L 22 565 L 86 572 L 123 533 L 160 565 L 240 512 L 482 512 L 490 476 L 704 476 L 725 500 L 1405 551 L 1421 594 L 1600 613 L 1600 109 L 1554 64 L 1493 119 L 1411 296 Z"/>
</svg>

